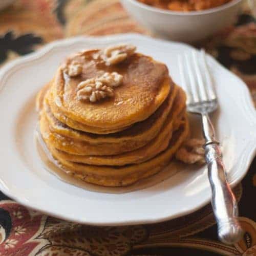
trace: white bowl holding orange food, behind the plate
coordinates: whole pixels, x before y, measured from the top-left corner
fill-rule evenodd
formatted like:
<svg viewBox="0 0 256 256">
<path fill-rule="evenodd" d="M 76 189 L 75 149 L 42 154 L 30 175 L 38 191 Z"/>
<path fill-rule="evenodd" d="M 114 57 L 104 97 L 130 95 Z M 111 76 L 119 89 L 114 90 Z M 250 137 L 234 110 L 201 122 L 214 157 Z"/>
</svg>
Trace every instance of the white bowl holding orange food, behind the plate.
<svg viewBox="0 0 256 256">
<path fill-rule="evenodd" d="M 242 0 L 191 12 L 163 10 L 136 0 L 121 0 L 121 3 L 139 23 L 156 35 L 176 41 L 193 42 L 232 25 L 241 9 Z"/>
</svg>

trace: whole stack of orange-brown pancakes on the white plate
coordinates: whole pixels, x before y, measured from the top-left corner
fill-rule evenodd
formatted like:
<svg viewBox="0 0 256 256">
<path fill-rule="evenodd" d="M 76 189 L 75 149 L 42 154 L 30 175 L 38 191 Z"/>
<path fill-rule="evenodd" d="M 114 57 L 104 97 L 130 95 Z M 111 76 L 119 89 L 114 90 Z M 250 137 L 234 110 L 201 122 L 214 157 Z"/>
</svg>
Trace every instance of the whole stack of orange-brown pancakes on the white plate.
<svg viewBox="0 0 256 256">
<path fill-rule="evenodd" d="M 163 63 L 133 53 L 109 65 L 102 50 L 69 57 L 37 95 L 40 134 L 68 175 L 124 186 L 158 173 L 188 135 L 185 93 Z M 76 76 L 65 69 L 79 64 Z M 104 72 L 122 75 L 112 97 L 77 97 L 78 84 Z"/>
</svg>

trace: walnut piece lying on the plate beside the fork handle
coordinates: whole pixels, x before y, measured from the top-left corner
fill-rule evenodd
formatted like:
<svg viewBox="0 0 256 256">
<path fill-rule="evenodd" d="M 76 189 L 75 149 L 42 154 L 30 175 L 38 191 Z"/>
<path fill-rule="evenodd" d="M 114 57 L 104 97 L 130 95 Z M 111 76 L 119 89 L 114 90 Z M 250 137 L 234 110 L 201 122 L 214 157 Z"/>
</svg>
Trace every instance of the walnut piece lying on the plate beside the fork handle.
<svg viewBox="0 0 256 256">
<path fill-rule="evenodd" d="M 188 164 L 204 164 L 204 143 L 203 139 L 189 139 L 179 148 L 175 157 Z"/>
</svg>

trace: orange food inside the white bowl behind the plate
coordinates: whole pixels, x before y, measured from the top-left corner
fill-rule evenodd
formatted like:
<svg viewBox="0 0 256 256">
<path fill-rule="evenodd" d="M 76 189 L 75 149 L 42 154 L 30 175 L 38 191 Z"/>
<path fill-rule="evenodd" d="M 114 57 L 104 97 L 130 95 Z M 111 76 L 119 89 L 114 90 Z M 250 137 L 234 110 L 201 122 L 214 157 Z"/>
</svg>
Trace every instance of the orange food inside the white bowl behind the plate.
<svg viewBox="0 0 256 256">
<path fill-rule="evenodd" d="M 139 2 L 172 11 L 201 11 L 224 5 L 231 0 L 138 0 Z"/>
</svg>

